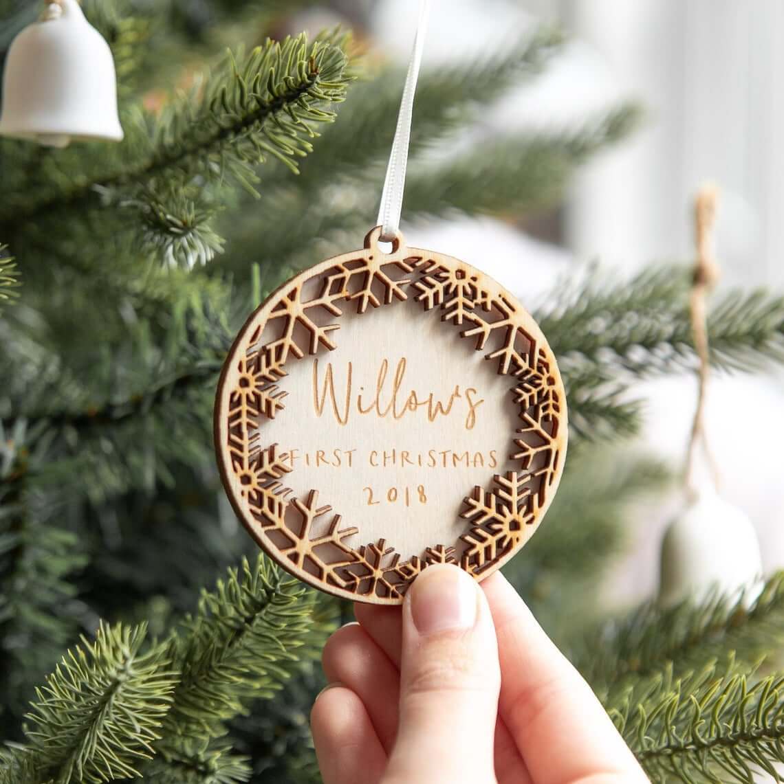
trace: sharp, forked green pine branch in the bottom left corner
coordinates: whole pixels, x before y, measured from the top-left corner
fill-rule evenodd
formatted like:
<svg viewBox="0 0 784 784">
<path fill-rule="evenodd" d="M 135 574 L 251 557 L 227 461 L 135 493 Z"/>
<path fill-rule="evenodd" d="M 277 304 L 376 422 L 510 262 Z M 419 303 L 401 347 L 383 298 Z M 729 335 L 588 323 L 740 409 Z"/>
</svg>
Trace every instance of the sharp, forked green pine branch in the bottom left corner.
<svg viewBox="0 0 784 784">
<path fill-rule="evenodd" d="M 259 556 L 256 568 L 243 562 L 242 576 L 229 572 L 205 593 L 167 644 L 144 653 L 144 626 L 101 626 L 38 691 L 30 744 L 6 755 L 2 775 L 16 784 L 108 781 L 141 775 L 135 766 L 148 760 L 144 775 L 156 782 L 249 780 L 246 757 L 221 740 L 224 724 L 280 688 L 297 648 L 312 656 L 320 647 L 328 619 L 314 602 Z"/>
</svg>

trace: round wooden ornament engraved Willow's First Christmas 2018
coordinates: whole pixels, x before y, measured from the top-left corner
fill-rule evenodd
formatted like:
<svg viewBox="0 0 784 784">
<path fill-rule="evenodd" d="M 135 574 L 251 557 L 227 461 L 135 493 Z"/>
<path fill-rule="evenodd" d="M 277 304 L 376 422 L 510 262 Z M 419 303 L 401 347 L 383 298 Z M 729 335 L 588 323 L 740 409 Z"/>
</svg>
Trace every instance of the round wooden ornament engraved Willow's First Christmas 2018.
<svg viewBox="0 0 784 784">
<path fill-rule="evenodd" d="M 509 292 L 380 236 L 253 313 L 221 374 L 215 444 L 269 556 L 328 593 L 399 604 L 429 564 L 483 579 L 526 543 L 560 481 L 567 412 Z"/>
</svg>

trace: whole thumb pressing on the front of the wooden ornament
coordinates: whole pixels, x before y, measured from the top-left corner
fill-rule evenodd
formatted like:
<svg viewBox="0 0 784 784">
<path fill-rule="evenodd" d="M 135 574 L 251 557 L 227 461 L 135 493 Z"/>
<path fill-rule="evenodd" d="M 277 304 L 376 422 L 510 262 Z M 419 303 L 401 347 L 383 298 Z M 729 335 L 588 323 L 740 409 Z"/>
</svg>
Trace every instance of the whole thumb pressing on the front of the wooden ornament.
<svg viewBox="0 0 784 784">
<path fill-rule="evenodd" d="M 403 602 L 400 720 L 385 784 L 494 782 L 500 684 L 484 593 L 456 566 L 429 566 Z"/>
</svg>

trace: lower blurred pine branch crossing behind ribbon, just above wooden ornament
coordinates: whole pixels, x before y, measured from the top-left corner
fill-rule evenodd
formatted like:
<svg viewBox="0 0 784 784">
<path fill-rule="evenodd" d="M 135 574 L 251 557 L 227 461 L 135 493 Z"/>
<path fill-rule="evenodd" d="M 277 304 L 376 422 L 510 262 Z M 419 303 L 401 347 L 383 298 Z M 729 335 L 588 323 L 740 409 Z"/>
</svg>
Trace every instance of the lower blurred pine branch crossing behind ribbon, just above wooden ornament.
<svg viewBox="0 0 784 784">
<path fill-rule="evenodd" d="M 637 111 L 622 107 L 571 135 L 522 137 L 465 154 L 442 165 L 410 165 L 404 209 L 413 219 L 423 214 L 443 216 L 454 210 L 469 214 L 545 209 L 563 188 L 589 151 L 614 143 L 633 125 Z M 622 122 L 620 118 L 626 118 Z M 341 113 L 341 122 L 343 122 Z M 350 153 L 349 153 L 350 154 Z M 374 225 L 384 172 L 367 172 L 361 182 L 347 183 L 337 199 L 333 191 L 309 193 L 275 189 L 262 197 L 268 217 L 264 236 L 258 224 L 233 227 L 233 250 L 228 266 L 246 265 L 248 253 L 285 275 L 319 257 L 345 251 L 367 227 Z M 317 246 L 317 247 L 314 247 Z M 348 245 L 351 247 L 351 245 Z M 249 249 L 253 250 L 250 251 Z"/>
</svg>

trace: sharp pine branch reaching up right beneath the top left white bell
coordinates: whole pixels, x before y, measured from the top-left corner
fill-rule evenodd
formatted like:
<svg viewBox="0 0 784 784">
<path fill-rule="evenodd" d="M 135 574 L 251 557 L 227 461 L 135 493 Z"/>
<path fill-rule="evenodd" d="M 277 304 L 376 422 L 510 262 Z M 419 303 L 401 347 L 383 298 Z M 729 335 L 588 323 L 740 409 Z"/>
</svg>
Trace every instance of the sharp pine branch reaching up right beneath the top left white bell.
<svg viewBox="0 0 784 784">
<path fill-rule="evenodd" d="M 239 65 L 230 57 L 155 121 L 129 116 L 121 165 L 78 177 L 49 172 L 40 187 L 29 183 L 6 194 L 0 226 L 12 236 L 53 217 L 63 220 L 65 212 L 138 209 L 177 185 L 203 189 L 197 176 L 213 183 L 230 176 L 253 190 L 253 167 L 269 157 L 296 171 L 296 159 L 312 151 L 315 127 L 334 119 L 331 107 L 343 100 L 348 85 L 345 71 L 340 45 L 320 40 L 308 45 L 304 35 L 267 42 Z M 70 160 L 84 167 L 81 156 Z"/>
</svg>

